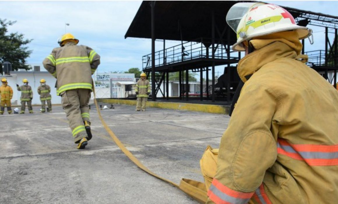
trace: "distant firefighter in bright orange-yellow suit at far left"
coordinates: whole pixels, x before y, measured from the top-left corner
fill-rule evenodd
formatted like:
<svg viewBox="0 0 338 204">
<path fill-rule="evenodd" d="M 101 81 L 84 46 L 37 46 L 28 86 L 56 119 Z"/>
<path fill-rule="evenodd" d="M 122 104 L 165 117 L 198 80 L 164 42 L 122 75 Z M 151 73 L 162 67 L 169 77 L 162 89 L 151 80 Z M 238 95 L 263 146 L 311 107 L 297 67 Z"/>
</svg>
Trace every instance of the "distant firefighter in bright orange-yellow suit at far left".
<svg viewBox="0 0 338 204">
<path fill-rule="evenodd" d="M 2 115 L 5 112 L 5 106 L 7 106 L 8 114 L 12 113 L 10 99 L 13 97 L 13 89 L 8 85 L 7 79 L 1 79 L 1 87 L 0 87 L 0 114 Z"/>
</svg>

